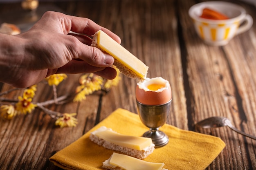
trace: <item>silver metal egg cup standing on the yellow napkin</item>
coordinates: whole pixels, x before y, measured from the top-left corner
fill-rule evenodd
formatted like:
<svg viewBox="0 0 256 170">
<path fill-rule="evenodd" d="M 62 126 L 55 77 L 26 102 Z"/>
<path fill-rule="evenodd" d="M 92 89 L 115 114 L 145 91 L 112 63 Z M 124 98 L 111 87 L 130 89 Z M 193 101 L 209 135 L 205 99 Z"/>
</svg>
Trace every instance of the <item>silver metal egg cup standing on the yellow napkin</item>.
<svg viewBox="0 0 256 170">
<path fill-rule="evenodd" d="M 139 118 L 142 123 L 150 129 L 146 131 L 143 136 L 151 138 L 153 144 L 155 144 L 155 148 L 160 148 L 168 144 L 168 136 L 160 131 L 159 128 L 167 121 L 171 101 L 172 99 L 161 105 L 146 105 L 136 100 Z"/>
</svg>

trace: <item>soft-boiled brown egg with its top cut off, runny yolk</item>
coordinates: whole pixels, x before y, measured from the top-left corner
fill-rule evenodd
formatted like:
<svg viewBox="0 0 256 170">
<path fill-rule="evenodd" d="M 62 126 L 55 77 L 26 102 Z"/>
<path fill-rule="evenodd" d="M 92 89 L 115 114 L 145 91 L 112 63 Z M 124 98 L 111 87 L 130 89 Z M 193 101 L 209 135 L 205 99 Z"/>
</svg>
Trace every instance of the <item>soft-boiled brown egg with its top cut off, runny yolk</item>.
<svg viewBox="0 0 256 170">
<path fill-rule="evenodd" d="M 162 77 L 146 78 L 137 83 L 136 99 L 146 105 L 161 105 L 172 99 L 171 86 Z"/>
</svg>

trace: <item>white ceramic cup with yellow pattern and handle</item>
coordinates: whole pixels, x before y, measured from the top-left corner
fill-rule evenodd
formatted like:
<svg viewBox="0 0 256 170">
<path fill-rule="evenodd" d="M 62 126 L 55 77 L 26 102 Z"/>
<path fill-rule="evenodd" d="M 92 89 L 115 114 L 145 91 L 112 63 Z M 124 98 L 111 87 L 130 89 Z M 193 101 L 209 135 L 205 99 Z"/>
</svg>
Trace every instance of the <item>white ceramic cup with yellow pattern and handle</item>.
<svg viewBox="0 0 256 170">
<path fill-rule="evenodd" d="M 211 20 L 200 18 L 202 10 L 210 8 L 227 15 L 227 20 Z M 189 16 L 192 18 L 195 30 L 205 43 L 213 46 L 224 46 L 235 35 L 250 29 L 253 24 L 252 16 L 246 14 L 243 7 L 222 1 L 208 1 L 193 5 L 189 9 Z M 243 23 L 243 24 L 242 24 Z"/>
</svg>

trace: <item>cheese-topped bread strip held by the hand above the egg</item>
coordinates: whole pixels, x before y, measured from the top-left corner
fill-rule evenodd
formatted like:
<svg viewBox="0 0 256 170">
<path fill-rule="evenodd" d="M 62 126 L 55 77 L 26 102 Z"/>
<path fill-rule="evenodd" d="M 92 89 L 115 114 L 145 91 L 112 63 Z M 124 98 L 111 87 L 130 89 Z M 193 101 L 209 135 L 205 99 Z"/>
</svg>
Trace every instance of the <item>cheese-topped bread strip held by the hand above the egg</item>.
<svg viewBox="0 0 256 170">
<path fill-rule="evenodd" d="M 101 49 L 101 51 L 112 55 L 115 59 L 114 65 L 121 73 L 139 81 L 146 79 L 148 66 L 141 62 L 141 60 L 101 30 L 92 36 L 91 46 L 95 46 Z"/>
</svg>

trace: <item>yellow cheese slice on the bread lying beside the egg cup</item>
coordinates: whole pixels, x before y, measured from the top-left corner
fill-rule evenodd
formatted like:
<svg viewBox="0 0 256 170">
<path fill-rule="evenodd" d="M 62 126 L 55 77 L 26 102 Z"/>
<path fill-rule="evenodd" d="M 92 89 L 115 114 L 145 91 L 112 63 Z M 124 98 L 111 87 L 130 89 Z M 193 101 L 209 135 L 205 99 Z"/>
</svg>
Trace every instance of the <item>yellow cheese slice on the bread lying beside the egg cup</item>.
<svg viewBox="0 0 256 170">
<path fill-rule="evenodd" d="M 153 144 L 151 138 L 123 135 L 105 126 L 101 126 L 92 134 L 113 144 L 135 150 L 143 150 Z"/>
</svg>

